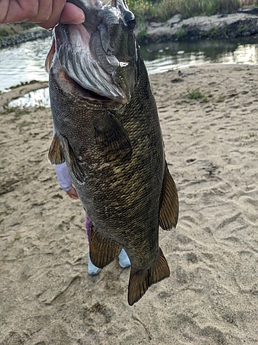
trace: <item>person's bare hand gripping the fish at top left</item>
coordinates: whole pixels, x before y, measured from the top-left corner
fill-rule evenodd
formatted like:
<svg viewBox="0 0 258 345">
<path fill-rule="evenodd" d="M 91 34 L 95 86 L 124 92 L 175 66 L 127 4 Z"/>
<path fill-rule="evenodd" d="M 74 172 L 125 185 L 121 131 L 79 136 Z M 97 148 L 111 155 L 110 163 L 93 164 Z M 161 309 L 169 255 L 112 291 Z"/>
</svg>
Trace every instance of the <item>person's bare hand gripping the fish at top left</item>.
<svg viewBox="0 0 258 345">
<path fill-rule="evenodd" d="M 60 21 L 80 24 L 85 21 L 83 10 L 66 0 L 0 0 L 0 23 L 29 21 L 52 29 Z"/>
</svg>

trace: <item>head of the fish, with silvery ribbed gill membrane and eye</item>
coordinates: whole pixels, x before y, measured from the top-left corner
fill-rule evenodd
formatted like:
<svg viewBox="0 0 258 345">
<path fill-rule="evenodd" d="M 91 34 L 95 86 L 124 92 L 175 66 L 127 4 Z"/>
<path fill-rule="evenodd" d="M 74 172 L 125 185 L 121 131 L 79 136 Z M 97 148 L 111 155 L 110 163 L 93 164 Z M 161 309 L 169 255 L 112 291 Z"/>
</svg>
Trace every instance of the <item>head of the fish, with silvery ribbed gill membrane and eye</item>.
<svg viewBox="0 0 258 345">
<path fill-rule="evenodd" d="M 79 25 L 54 28 L 46 69 L 65 75 L 84 97 L 129 103 L 138 81 L 136 19 L 124 0 L 71 0 L 85 12 Z M 63 73 L 62 73 L 62 72 Z M 85 92 L 83 92 L 83 90 Z"/>
</svg>

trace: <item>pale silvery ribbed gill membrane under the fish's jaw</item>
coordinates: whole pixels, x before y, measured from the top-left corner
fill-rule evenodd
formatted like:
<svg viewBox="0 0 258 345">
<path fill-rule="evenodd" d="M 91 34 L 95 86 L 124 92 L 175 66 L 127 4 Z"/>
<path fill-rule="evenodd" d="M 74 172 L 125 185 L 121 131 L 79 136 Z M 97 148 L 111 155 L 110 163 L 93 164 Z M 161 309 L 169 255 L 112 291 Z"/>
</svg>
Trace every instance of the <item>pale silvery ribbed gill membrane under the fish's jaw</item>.
<svg viewBox="0 0 258 345">
<path fill-rule="evenodd" d="M 56 56 L 61 68 L 83 89 L 98 95 L 97 99 L 129 103 L 125 91 L 114 82 L 113 75 L 106 72 L 92 58 L 89 49 L 91 38 L 92 35 L 87 32 L 83 24 L 68 26 L 58 23 L 54 28 L 54 40 Z"/>
</svg>

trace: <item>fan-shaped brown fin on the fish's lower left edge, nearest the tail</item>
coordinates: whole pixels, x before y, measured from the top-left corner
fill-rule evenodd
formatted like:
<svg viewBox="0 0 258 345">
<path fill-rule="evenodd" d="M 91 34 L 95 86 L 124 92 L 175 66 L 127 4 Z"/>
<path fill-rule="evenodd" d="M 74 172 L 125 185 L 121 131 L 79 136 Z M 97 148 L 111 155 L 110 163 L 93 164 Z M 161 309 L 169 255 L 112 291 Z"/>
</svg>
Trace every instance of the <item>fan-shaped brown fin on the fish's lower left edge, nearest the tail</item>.
<svg viewBox="0 0 258 345">
<path fill-rule="evenodd" d="M 91 238 L 89 241 L 89 255 L 92 264 L 103 268 L 112 262 L 121 251 L 122 247 L 108 239 L 103 238 L 91 222 Z"/>
</svg>

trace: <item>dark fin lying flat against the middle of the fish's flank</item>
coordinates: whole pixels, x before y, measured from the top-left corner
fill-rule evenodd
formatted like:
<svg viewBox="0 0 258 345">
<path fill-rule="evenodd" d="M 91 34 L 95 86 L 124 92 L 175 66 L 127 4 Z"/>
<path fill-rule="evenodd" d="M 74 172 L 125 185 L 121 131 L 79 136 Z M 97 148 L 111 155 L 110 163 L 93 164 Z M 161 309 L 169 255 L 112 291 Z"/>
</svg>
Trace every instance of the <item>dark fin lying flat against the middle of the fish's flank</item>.
<svg viewBox="0 0 258 345">
<path fill-rule="evenodd" d="M 107 112 L 105 121 L 96 124 L 95 138 L 101 154 L 108 161 L 131 158 L 131 141 L 125 128 L 111 112 Z"/>
</svg>

